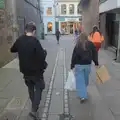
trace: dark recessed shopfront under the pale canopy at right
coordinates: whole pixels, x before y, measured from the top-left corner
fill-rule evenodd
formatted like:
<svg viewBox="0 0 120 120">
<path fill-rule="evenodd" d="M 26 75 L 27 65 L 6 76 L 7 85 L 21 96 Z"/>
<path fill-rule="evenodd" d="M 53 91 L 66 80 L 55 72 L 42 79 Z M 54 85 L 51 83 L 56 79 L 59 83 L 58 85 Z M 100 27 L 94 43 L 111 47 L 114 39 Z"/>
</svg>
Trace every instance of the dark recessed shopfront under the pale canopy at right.
<svg viewBox="0 0 120 120">
<path fill-rule="evenodd" d="M 105 48 L 112 46 L 118 47 L 119 21 L 116 20 L 116 13 L 100 14 L 100 29 L 105 37 L 103 46 Z"/>
</svg>

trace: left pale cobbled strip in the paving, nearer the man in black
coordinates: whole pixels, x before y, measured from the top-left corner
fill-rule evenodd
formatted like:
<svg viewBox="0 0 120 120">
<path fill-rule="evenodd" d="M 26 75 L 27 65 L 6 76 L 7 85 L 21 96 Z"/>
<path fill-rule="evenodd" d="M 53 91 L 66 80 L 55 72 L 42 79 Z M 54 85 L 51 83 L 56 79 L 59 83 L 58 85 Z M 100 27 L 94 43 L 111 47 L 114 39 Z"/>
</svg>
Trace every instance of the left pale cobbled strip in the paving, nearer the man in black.
<svg viewBox="0 0 120 120">
<path fill-rule="evenodd" d="M 55 61 L 50 85 L 49 85 L 49 88 L 48 88 L 47 96 L 50 95 L 50 97 L 49 98 L 46 97 L 46 101 L 45 101 L 45 105 L 48 104 L 48 101 L 49 101 L 49 104 L 48 104 L 47 107 L 44 107 L 44 110 L 43 110 L 44 112 L 42 113 L 42 120 L 47 120 L 48 119 L 48 112 L 49 112 L 49 107 L 50 107 L 50 103 L 51 103 L 52 89 L 53 89 L 53 84 L 54 84 L 54 80 L 55 80 L 56 68 L 57 68 L 58 60 L 59 60 L 59 54 L 60 54 L 60 50 L 57 53 L 57 57 L 56 57 L 56 61 Z M 44 118 L 45 113 L 47 115 L 46 118 Z"/>
</svg>

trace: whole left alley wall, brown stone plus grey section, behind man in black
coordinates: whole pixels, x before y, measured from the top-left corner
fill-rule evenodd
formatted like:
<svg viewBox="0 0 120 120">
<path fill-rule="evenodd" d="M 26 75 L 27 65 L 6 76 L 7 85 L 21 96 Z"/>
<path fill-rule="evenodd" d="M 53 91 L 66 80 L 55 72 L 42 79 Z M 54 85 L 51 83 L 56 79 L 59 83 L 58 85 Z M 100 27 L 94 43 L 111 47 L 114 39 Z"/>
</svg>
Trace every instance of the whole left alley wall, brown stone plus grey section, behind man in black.
<svg viewBox="0 0 120 120">
<path fill-rule="evenodd" d="M 5 6 L 0 9 L 0 15 L 4 13 L 4 22 L 0 20 L 0 67 L 15 58 L 15 55 L 10 53 L 10 47 L 16 38 L 24 33 L 25 24 L 33 21 L 39 26 L 40 23 L 39 12 L 25 0 L 5 0 Z M 17 24 L 19 29 L 14 31 L 13 25 Z"/>
</svg>

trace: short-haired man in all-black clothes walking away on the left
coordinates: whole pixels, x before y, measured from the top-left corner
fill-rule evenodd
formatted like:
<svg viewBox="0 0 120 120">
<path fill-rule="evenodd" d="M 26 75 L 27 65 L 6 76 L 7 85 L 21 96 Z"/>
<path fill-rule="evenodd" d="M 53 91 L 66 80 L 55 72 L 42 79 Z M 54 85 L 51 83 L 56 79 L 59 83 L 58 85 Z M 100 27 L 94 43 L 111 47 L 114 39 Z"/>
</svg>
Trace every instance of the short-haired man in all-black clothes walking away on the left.
<svg viewBox="0 0 120 120">
<path fill-rule="evenodd" d="M 37 111 L 45 88 L 43 73 L 47 67 L 45 61 L 47 52 L 34 36 L 36 26 L 28 23 L 24 35 L 20 36 L 11 47 L 12 53 L 18 53 L 20 72 L 23 73 L 32 102 L 30 116 L 37 118 Z"/>
</svg>

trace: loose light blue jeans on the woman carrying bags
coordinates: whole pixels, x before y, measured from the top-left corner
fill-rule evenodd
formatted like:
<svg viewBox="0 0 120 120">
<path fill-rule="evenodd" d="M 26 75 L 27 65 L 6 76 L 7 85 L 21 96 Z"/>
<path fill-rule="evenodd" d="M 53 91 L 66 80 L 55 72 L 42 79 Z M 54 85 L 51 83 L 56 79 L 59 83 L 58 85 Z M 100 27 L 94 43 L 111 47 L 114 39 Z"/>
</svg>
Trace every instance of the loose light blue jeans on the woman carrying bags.
<svg viewBox="0 0 120 120">
<path fill-rule="evenodd" d="M 75 65 L 76 92 L 80 98 L 88 98 L 87 86 L 89 85 L 89 74 L 91 65 Z"/>
</svg>

